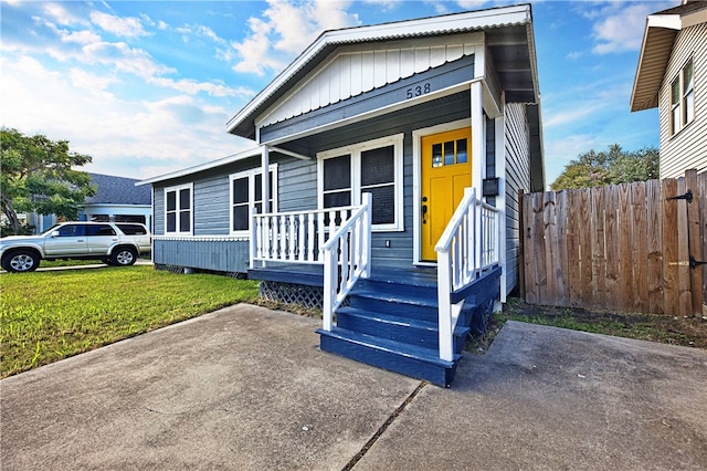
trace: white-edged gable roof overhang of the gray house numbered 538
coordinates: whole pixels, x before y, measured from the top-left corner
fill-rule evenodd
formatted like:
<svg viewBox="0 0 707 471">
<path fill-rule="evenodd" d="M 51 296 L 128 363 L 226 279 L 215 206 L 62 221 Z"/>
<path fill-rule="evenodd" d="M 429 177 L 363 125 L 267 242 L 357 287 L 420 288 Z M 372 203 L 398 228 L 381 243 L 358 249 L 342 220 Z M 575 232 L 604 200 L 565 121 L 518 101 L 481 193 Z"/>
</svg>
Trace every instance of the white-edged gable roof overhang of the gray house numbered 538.
<svg viewBox="0 0 707 471">
<path fill-rule="evenodd" d="M 326 31 L 226 124 L 229 133 L 255 140 L 255 119 L 342 45 L 485 31 L 486 46 L 507 102 L 538 103 L 539 85 L 529 4 L 369 27 Z M 496 34 L 495 34 L 496 33 Z"/>
</svg>

